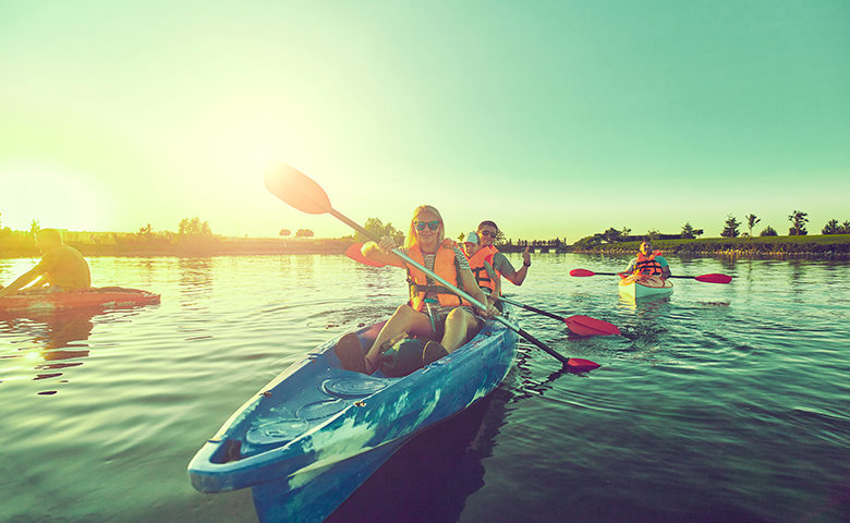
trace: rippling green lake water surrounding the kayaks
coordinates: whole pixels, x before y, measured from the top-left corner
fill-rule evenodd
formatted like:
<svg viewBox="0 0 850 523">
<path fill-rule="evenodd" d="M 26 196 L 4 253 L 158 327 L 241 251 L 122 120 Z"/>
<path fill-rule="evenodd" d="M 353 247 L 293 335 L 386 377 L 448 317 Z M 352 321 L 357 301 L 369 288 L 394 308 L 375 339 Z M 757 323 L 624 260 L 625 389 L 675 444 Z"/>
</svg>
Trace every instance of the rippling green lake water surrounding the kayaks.
<svg viewBox="0 0 850 523">
<path fill-rule="evenodd" d="M 511 255 L 514 265 L 519 255 Z M 8 283 L 35 260 L 0 259 Z M 405 300 L 343 256 L 92 258 L 93 284 L 162 303 L 0 320 L 0 521 L 253 522 L 247 490 L 186 465 L 250 396 Z M 535 255 L 514 300 L 622 337 L 525 330 L 602 367 L 560 374 L 521 342 L 475 408 L 402 448 L 329 521 L 850 521 L 850 264 L 671 257 L 669 300 L 621 302 L 624 257 Z"/>
</svg>

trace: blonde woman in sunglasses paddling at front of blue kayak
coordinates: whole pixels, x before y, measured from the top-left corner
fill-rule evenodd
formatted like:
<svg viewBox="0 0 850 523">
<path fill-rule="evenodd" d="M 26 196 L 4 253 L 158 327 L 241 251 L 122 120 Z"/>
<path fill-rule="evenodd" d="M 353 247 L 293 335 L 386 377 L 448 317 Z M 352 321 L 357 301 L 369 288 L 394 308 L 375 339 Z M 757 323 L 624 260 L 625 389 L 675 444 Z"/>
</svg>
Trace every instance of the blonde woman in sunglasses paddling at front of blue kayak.
<svg viewBox="0 0 850 523">
<path fill-rule="evenodd" d="M 337 355 L 350 370 L 366 374 L 377 370 L 380 367 L 381 345 L 402 332 L 440 339 L 439 342 L 428 341 L 425 344 L 422 360 L 423 365 L 427 365 L 461 346 L 482 326 L 482 320 L 466 301 L 391 254 L 397 247 L 391 236 L 384 236 L 379 243 L 367 242 L 361 250 L 364 256 L 376 262 L 405 268 L 411 300 L 396 309 L 365 356 L 357 335 L 350 332 L 340 338 Z M 478 302 L 487 304 L 487 312 L 481 313 L 482 316 L 498 314 L 475 283 L 466 257 L 453 241 L 445 238 L 442 217 L 434 207 L 416 207 L 401 251 Z"/>
</svg>

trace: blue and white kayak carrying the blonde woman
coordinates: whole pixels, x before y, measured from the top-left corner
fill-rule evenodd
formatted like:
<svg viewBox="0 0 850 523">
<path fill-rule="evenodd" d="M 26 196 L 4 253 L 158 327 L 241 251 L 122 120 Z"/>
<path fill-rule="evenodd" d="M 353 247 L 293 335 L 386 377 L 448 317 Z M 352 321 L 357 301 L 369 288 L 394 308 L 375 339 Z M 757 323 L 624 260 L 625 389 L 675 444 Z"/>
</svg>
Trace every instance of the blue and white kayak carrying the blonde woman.
<svg viewBox="0 0 850 523">
<path fill-rule="evenodd" d="M 363 346 L 382 326 L 357 331 Z M 193 487 L 250 487 L 263 523 L 323 521 L 404 442 L 496 389 L 517 353 L 517 333 L 488 321 L 448 356 L 389 378 L 343 369 L 337 340 L 307 353 L 230 416 L 190 462 Z"/>
</svg>

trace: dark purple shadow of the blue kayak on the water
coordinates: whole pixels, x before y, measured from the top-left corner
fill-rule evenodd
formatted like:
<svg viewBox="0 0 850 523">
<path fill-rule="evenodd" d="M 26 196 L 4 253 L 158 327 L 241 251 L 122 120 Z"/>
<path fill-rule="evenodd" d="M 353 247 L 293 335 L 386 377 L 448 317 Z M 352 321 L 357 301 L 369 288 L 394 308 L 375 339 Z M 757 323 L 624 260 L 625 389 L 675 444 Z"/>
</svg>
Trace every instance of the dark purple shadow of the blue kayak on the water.
<svg viewBox="0 0 850 523">
<path fill-rule="evenodd" d="M 482 461 L 505 424 L 511 381 L 404 445 L 326 523 L 457 521 L 484 486 Z"/>
</svg>

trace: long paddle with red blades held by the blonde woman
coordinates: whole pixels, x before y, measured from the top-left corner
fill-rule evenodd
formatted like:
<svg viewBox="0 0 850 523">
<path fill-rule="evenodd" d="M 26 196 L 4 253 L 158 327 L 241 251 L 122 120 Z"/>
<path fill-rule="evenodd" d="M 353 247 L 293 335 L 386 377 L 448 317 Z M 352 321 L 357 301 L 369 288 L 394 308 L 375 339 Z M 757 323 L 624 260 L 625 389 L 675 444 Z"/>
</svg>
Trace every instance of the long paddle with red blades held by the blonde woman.
<svg viewBox="0 0 850 523">
<path fill-rule="evenodd" d="M 291 166 L 288 166 L 286 163 L 279 163 L 275 168 L 269 169 L 268 172 L 266 173 L 266 188 L 268 188 L 269 192 L 271 192 L 271 194 L 280 198 L 281 200 L 286 202 L 287 204 L 291 205 L 292 207 L 296 208 L 298 210 L 311 215 L 323 215 L 327 212 L 332 217 L 337 218 L 338 220 L 342 221 L 347 226 L 351 227 L 355 231 L 360 232 L 364 236 L 368 238 L 369 240 L 374 242 L 379 241 L 375 234 L 367 231 L 359 223 L 352 221 L 351 219 L 347 218 L 345 216 L 343 216 L 342 214 L 333 209 L 333 207 L 331 207 L 330 205 L 330 199 L 328 198 L 327 193 L 325 193 L 325 190 L 321 188 L 321 186 L 318 183 L 316 183 L 313 179 L 311 179 L 309 177 L 307 177 L 306 174 L 304 174 L 303 172 L 299 171 L 298 169 Z M 465 292 L 461 291 L 457 287 L 452 285 L 448 281 L 440 278 L 439 276 L 435 275 L 433 271 L 423 267 L 422 265 L 416 263 L 413 258 L 402 253 L 398 248 L 393 248 L 392 254 L 403 259 L 405 263 L 410 264 L 411 266 L 425 272 L 430 278 L 438 281 L 447 289 L 449 289 L 451 292 L 466 300 L 467 302 L 481 308 L 482 311 L 487 309 L 487 307 L 483 303 L 478 302 L 471 295 L 466 294 Z M 598 363 L 592 362 L 590 360 L 582 360 L 578 357 L 566 357 L 559 354 L 554 349 L 547 346 L 542 341 L 537 340 L 536 338 L 534 338 L 533 336 L 531 336 L 530 333 L 521 329 L 518 325 L 512 324 L 511 321 L 502 318 L 501 316 L 496 316 L 494 317 L 494 319 L 505 325 L 506 327 L 517 332 L 518 335 L 522 336 L 523 338 L 532 342 L 534 345 L 536 345 L 538 349 L 545 351 L 547 354 L 561 362 L 564 366 L 569 367 L 571 370 L 576 370 L 576 372 L 591 370 L 599 366 Z"/>
</svg>

